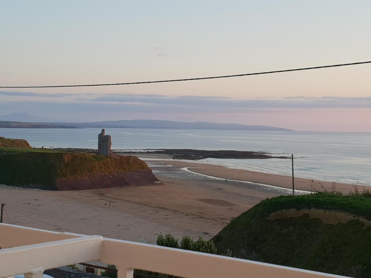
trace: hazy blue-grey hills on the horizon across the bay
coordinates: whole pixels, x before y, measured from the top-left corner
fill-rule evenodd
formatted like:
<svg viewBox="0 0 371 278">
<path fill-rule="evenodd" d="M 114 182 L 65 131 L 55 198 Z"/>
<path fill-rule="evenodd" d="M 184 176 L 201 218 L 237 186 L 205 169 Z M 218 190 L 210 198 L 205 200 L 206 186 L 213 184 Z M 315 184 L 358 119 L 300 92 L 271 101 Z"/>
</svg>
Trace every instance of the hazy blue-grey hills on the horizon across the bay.
<svg viewBox="0 0 371 278">
<path fill-rule="evenodd" d="M 241 125 L 237 123 L 176 122 L 168 120 L 117 120 L 103 122 L 11 122 L 0 121 L 0 128 L 162 128 L 162 129 L 230 129 L 230 130 L 291 130 L 274 126 Z"/>
</svg>

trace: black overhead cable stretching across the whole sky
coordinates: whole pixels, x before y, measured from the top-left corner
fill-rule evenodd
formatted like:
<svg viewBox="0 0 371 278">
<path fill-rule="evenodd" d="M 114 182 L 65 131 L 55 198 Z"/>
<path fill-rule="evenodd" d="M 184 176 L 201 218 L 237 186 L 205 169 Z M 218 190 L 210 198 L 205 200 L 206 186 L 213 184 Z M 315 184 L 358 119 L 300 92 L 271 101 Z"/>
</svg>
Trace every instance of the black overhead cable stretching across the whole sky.
<svg viewBox="0 0 371 278">
<path fill-rule="evenodd" d="M 227 78 L 227 77 L 248 76 L 248 75 L 265 75 L 265 74 L 268 74 L 268 73 L 295 72 L 295 71 L 299 71 L 299 70 L 323 69 L 323 68 L 326 68 L 326 67 L 342 67 L 342 66 L 351 66 L 351 65 L 356 65 L 356 64 L 368 64 L 368 63 L 371 63 L 371 61 L 357 62 L 357 63 L 348 63 L 348 64 L 333 64 L 333 65 L 318 66 L 318 67 L 302 67 L 302 68 L 299 68 L 299 69 L 273 70 L 271 72 L 244 73 L 244 74 L 240 74 L 240 75 L 222 75 L 222 76 L 197 77 L 197 78 L 186 78 L 186 79 L 171 79 L 171 80 L 158 80 L 158 81 L 127 82 L 127 83 L 107 83 L 107 84 L 89 84 L 89 85 L 0 86 L 0 88 L 60 88 L 60 87 L 90 87 L 90 86 L 133 85 L 133 84 L 145 84 L 145 83 L 164 83 L 164 82 L 204 80 L 204 79 L 216 79 L 216 78 Z"/>
</svg>

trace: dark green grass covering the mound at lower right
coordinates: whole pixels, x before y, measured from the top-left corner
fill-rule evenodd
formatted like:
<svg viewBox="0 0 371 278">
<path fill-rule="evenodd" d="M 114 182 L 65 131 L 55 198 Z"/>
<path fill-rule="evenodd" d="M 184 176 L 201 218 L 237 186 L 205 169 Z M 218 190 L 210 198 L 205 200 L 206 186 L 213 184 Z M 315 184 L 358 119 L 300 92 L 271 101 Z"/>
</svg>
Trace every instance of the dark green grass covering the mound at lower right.
<svg viewBox="0 0 371 278">
<path fill-rule="evenodd" d="M 371 219 L 371 198 L 316 193 L 266 199 L 233 219 L 212 240 L 236 257 L 351 277 L 371 277 L 371 226 L 325 224 L 309 215 L 268 220 L 281 209 L 323 209 Z"/>
</svg>

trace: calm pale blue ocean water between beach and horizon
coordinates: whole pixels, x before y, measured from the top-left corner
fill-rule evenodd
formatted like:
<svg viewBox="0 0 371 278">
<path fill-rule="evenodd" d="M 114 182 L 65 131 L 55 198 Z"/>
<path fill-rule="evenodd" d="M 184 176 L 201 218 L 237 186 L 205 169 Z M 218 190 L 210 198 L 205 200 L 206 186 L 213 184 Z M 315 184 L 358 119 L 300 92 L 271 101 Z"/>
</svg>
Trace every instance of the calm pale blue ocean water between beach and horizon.
<svg viewBox="0 0 371 278">
<path fill-rule="evenodd" d="M 36 147 L 97 148 L 100 128 L 0 129 Z M 190 148 L 293 153 L 296 176 L 371 185 L 371 133 L 261 132 L 199 129 L 106 129 L 112 149 Z M 290 159 L 204 159 L 200 162 L 291 175 Z M 263 182 L 263 181 L 262 181 Z"/>
</svg>

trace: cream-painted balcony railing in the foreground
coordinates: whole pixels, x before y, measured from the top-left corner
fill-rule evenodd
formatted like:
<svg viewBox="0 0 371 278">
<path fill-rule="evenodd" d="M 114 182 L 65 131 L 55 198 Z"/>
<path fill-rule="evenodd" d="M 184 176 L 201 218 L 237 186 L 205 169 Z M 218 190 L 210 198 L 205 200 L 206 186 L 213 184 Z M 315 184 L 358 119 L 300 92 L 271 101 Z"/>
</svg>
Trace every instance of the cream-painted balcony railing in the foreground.
<svg viewBox="0 0 371 278">
<path fill-rule="evenodd" d="M 98 260 L 116 265 L 118 278 L 132 278 L 134 269 L 188 278 L 344 277 L 99 235 L 9 224 L 0 224 L 0 247 L 0 277 L 25 274 L 25 278 L 42 278 L 46 269 Z"/>
</svg>

